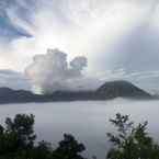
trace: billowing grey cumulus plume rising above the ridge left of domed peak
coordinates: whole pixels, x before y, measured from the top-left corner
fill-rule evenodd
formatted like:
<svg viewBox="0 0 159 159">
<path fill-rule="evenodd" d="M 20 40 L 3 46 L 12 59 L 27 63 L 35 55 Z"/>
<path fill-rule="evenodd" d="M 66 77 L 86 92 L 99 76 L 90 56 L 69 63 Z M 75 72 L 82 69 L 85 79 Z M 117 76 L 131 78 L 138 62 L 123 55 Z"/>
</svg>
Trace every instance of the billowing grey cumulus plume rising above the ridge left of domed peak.
<svg viewBox="0 0 159 159">
<path fill-rule="evenodd" d="M 87 58 L 79 56 L 67 61 L 67 54 L 58 49 L 47 49 L 45 55 L 36 55 L 25 73 L 36 93 L 52 93 L 61 90 L 76 90 L 76 80 L 82 78 Z"/>
</svg>

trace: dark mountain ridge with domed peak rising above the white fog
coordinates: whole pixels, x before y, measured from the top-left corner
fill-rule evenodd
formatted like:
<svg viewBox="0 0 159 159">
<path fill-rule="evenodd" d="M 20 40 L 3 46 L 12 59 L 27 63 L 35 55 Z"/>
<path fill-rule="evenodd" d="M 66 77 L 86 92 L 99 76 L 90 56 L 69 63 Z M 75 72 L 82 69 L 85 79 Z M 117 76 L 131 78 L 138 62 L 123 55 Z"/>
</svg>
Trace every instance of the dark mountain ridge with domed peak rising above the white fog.
<svg viewBox="0 0 159 159">
<path fill-rule="evenodd" d="M 52 94 L 42 95 L 24 90 L 0 88 L 0 103 L 111 100 L 120 96 L 129 99 L 155 99 L 146 91 L 127 81 L 105 82 L 94 91 L 56 91 Z"/>
</svg>

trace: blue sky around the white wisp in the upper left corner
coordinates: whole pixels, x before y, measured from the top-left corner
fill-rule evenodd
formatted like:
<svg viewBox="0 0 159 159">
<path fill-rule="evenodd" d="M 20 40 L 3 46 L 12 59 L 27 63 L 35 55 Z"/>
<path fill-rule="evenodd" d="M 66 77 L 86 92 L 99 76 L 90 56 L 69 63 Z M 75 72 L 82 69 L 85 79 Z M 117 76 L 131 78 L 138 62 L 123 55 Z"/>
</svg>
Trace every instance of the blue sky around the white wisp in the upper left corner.
<svg viewBox="0 0 159 159">
<path fill-rule="evenodd" d="M 29 2 L 29 1 L 27 1 Z M 30 2 L 29 2 L 30 3 Z M 30 37 L 32 36 L 27 31 L 15 25 L 8 15 L 10 9 L 16 8 L 16 14 L 23 20 L 30 22 L 30 11 L 27 5 L 22 5 L 16 0 L 1 0 L 0 2 L 0 38 L 1 41 L 12 41 L 21 36 Z"/>
</svg>

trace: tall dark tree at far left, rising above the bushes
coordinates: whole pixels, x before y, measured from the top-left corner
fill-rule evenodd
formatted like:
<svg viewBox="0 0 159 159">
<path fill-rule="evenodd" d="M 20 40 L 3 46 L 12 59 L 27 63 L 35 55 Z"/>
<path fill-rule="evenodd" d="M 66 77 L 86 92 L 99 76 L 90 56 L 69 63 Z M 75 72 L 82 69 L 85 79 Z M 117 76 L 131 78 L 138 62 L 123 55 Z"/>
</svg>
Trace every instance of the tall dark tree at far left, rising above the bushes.
<svg viewBox="0 0 159 159">
<path fill-rule="evenodd" d="M 23 159 L 34 147 L 34 115 L 18 114 L 0 125 L 0 159 Z"/>
</svg>

